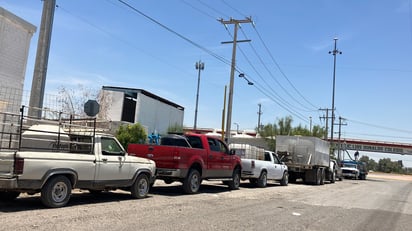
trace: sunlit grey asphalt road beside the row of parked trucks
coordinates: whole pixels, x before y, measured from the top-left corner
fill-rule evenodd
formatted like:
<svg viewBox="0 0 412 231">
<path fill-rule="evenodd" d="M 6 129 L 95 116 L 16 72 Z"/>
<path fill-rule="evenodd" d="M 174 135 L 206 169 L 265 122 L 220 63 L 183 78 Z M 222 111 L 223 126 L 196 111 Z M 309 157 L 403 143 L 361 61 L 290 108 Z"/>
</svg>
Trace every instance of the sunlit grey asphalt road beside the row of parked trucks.
<svg viewBox="0 0 412 231">
<path fill-rule="evenodd" d="M 156 182 L 150 197 L 127 192 L 75 193 L 59 209 L 38 195 L 0 203 L 0 230 L 412 230 L 412 181 L 369 178 L 311 186 L 244 182 L 229 191 L 205 182 L 183 195 L 179 184 Z"/>
</svg>

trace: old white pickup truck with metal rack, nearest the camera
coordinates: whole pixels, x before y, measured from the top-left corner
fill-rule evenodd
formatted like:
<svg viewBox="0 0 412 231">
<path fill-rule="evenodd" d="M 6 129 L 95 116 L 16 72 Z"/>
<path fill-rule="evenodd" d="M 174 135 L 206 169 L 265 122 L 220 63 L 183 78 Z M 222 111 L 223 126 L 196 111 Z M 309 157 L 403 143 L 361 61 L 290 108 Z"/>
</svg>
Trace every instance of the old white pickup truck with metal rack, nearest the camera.
<svg viewBox="0 0 412 231">
<path fill-rule="evenodd" d="M 3 115 L 6 122 L 7 118 Z M 111 135 L 95 130 L 73 132 L 74 127 L 61 120 L 58 125 L 48 123 L 19 125 L 15 130 L 19 132 L 6 125 L 0 131 L 0 200 L 13 200 L 23 192 L 40 192 L 45 206 L 62 207 L 74 188 L 91 193 L 123 189 L 133 198 L 147 196 L 155 179 L 154 161 L 129 156 Z"/>
</svg>

